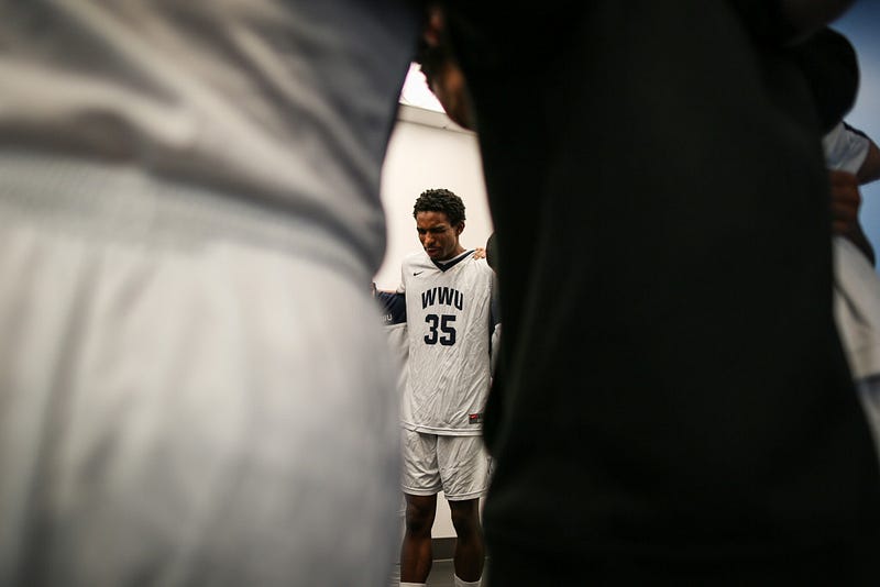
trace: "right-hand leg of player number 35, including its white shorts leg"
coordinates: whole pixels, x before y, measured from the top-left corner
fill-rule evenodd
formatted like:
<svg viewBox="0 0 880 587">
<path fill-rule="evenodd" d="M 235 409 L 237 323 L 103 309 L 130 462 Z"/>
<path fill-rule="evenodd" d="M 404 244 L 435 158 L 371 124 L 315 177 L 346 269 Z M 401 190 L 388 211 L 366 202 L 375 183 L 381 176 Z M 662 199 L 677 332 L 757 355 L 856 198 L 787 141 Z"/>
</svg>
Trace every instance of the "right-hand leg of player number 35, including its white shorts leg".
<svg viewBox="0 0 880 587">
<path fill-rule="evenodd" d="M 480 498 L 488 486 L 490 457 L 482 436 L 440 436 L 437 453 L 458 536 L 453 555 L 457 582 L 476 583 L 485 560 Z"/>
</svg>

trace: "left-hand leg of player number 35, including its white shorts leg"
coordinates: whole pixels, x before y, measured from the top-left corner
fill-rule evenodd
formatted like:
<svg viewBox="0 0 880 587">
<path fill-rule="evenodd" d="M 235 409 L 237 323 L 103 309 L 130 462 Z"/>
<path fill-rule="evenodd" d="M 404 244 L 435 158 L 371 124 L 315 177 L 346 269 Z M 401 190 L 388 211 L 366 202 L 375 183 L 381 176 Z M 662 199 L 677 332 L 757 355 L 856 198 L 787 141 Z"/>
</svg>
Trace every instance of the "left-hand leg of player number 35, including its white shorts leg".
<svg viewBox="0 0 880 587">
<path fill-rule="evenodd" d="M 431 572 L 431 527 L 437 494 L 442 488 L 435 434 L 403 431 L 402 488 L 406 497 L 406 530 L 400 547 L 400 582 L 425 583 Z"/>
</svg>

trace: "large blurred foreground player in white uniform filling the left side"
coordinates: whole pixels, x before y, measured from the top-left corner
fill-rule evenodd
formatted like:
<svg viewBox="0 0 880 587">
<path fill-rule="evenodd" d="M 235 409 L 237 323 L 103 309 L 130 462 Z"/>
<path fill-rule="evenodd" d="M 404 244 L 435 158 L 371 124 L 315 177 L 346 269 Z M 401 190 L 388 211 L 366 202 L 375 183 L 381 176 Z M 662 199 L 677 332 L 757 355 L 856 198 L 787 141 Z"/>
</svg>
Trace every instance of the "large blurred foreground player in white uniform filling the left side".
<svg viewBox="0 0 880 587">
<path fill-rule="evenodd" d="M 4 2 L 0 585 L 380 585 L 365 291 L 418 15 Z"/>
</svg>

